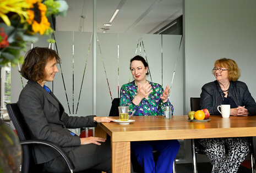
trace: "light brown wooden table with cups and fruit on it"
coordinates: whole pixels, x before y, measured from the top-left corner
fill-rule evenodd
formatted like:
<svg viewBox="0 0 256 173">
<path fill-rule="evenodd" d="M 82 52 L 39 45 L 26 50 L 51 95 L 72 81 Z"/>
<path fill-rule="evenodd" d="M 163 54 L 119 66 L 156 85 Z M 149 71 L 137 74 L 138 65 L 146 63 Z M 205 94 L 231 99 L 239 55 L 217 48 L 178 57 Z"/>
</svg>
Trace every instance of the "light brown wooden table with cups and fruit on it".
<svg viewBox="0 0 256 173">
<path fill-rule="evenodd" d="M 209 122 L 189 122 L 187 115 L 174 115 L 168 120 L 164 116 L 130 119 L 135 121 L 129 125 L 100 123 L 95 131 L 95 136 L 111 136 L 112 172 L 130 172 L 131 141 L 256 136 L 256 116 L 211 115 Z"/>
</svg>

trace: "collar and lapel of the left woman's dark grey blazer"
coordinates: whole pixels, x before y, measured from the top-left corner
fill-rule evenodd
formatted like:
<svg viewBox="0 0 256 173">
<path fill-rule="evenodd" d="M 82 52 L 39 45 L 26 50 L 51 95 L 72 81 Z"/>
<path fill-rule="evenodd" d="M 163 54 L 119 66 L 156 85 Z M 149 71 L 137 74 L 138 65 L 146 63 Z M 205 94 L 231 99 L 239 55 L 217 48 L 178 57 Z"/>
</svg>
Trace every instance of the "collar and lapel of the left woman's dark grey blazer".
<svg viewBox="0 0 256 173">
<path fill-rule="evenodd" d="M 48 93 L 45 90 L 45 88 L 43 88 L 39 83 L 37 83 L 35 81 L 28 81 L 28 84 L 39 89 L 43 93 L 43 95 L 48 99 L 48 101 L 51 102 L 53 105 L 55 105 L 55 107 L 59 111 L 59 106 L 62 107 L 62 104 L 61 104 L 61 102 L 58 101 L 58 99 L 55 97 L 55 95 L 52 93 L 52 91 L 50 91 L 50 93 Z M 60 111 L 59 111 L 59 113 L 60 113 Z"/>
</svg>

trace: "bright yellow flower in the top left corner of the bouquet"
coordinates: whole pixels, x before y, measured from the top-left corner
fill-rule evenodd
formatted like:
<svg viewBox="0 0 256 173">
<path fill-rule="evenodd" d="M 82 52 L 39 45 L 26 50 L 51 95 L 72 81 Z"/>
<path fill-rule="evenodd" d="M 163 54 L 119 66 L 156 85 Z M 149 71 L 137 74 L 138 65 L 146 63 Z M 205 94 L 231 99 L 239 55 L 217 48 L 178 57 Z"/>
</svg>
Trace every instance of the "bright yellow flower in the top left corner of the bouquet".
<svg viewBox="0 0 256 173">
<path fill-rule="evenodd" d="M 0 0 L 0 18 L 2 18 L 7 26 L 10 26 L 7 14 L 13 12 L 17 13 L 20 16 L 21 23 L 24 23 L 24 18 L 28 18 L 28 12 L 24 9 L 29 8 L 29 6 L 30 4 L 25 0 Z"/>
</svg>

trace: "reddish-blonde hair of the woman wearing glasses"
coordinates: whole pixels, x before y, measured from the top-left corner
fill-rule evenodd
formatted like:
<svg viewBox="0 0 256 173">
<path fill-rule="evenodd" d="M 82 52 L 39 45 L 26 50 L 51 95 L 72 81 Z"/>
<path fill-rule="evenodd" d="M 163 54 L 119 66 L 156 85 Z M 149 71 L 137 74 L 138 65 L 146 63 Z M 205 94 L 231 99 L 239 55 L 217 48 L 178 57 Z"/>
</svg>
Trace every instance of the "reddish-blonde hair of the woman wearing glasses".
<svg viewBox="0 0 256 173">
<path fill-rule="evenodd" d="M 214 67 L 220 66 L 228 69 L 228 80 L 237 81 L 241 75 L 237 63 L 233 59 L 221 58 L 216 60 Z"/>
</svg>

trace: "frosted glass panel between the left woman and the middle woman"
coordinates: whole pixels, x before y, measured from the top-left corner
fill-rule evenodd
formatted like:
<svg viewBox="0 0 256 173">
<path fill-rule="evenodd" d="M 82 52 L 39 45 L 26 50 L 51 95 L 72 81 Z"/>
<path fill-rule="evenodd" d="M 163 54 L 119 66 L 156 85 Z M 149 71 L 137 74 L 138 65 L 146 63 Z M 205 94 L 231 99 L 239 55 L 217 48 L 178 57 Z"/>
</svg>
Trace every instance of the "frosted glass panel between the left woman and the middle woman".
<svg viewBox="0 0 256 173">
<path fill-rule="evenodd" d="M 61 67 L 66 86 L 64 85 L 61 75 L 61 69 L 55 77 L 54 93 L 63 104 L 64 109 L 70 115 L 91 115 L 92 114 L 92 53 L 89 52 L 88 62 L 85 71 L 83 87 L 81 81 L 83 79 L 85 61 L 88 54 L 91 33 L 88 32 L 56 32 L 56 41 L 59 56 L 62 59 Z M 74 57 L 73 57 L 73 41 L 74 41 Z M 74 72 L 73 72 L 74 65 Z M 74 74 L 74 76 L 73 76 Z M 81 95 L 78 105 L 78 98 L 81 88 Z M 69 103 L 69 108 L 68 108 Z M 77 113 L 77 114 L 76 114 Z"/>
</svg>

